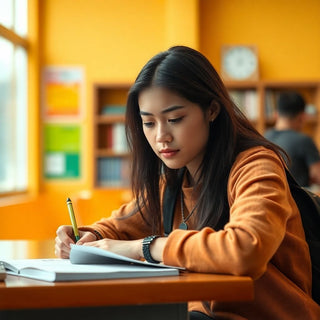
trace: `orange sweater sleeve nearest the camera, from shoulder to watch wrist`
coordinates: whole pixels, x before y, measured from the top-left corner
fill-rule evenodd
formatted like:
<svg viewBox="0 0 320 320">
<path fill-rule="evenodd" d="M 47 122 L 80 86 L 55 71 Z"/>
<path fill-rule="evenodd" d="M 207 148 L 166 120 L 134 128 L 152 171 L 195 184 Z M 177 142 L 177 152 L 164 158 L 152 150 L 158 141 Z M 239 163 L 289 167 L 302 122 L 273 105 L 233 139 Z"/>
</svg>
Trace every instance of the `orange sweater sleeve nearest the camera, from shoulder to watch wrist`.
<svg viewBox="0 0 320 320">
<path fill-rule="evenodd" d="M 241 153 L 228 180 L 229 222 L 223 230 L 174 230 L 164 263 L 196 272 L 261 276 L 298 209 L 278 156 L 257 147 Z M 297 235 L 304 237 L 301 226 Z"/>
</svg>

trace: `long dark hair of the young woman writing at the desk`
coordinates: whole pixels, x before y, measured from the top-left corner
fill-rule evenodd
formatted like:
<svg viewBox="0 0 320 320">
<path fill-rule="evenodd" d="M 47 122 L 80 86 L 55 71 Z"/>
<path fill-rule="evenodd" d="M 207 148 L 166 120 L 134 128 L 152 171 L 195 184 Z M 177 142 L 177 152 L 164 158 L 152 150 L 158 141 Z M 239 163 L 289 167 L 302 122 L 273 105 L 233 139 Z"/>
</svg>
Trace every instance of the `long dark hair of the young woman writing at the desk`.
<svg viewBox="0 0 320 320">
<path fill-rule="evenodd" d="M 210 125 L 207 150 L 200 168 L 201 190 L 197 203 L 197 228 L 222 227 L 229 218 L 227 182 L 232 164 L 239 154 L 254 146 L 265 146 L 279 156 L 279 149 L 251 125 L 232 102 L 218 73 L 200 52 L 175 46 L 151 58 L 140 71 L 127 99 L 126 131 L 132 152 L 132 191 L 138 209 L 154 233 L 161 230 L 159 182 L 172 184 L 178 170 L 164 165 L 143 133 L 138 97 L 142 90 L 160 86 L 199 104 L 203 112 L 211 103 L 220 113 Z M 198 181 L 199 182 L 199 181 Z"/>
</svg>

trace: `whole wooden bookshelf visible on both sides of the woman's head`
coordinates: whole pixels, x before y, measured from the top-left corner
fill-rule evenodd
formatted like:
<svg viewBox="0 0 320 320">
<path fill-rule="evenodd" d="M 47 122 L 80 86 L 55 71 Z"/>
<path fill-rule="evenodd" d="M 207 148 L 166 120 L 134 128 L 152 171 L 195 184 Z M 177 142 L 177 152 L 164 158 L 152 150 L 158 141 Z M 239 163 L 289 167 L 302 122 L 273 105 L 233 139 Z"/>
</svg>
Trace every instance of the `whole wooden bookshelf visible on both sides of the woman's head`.
<svg viewBox="0 0 320 320">
<path fill-rule="evenodd" d="M 275 101 L 279 92 L 296 90 L 307 103 L 304 132 L 320 148 L 320 81 L 225 81 L 236 104 L 260 133 L 274 125 Z M 129 187 L 130 155 L 124 121 L 130 84 L 94 85 L 94 188 Z"/>
</svg>

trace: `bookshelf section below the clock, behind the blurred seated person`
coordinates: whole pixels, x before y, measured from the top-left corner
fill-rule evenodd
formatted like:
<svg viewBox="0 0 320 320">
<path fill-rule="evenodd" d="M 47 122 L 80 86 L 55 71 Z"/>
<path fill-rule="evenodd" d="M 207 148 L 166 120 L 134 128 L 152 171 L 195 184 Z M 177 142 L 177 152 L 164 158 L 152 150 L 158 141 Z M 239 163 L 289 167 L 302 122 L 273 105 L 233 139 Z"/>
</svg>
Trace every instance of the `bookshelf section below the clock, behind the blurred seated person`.
<svg viewBox="0 0 320 320">
<path fill-rule="evenodd" d="M 234 102 L 262 134 L 275 123 L 278 94 L 286 90 L 300 92 L 307 104 L 303 132 L 320 148 L 320 81 L 226 81 L 225 85 Z"/>
</svg>

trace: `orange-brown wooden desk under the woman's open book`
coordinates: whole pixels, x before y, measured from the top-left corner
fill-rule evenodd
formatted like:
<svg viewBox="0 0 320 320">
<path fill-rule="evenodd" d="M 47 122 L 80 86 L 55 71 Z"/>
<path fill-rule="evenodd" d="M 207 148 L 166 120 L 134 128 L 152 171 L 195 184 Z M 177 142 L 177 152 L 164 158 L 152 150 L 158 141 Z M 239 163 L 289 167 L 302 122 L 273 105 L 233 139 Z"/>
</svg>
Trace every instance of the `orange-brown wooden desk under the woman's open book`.
<svg viewBox="0 0 320 320">
<path fill-rule="evenodd" d="M 58 283 L 7 276 L 0 282 L 0 318 L 14 319 L 11 315 L 16 314 L 17 319 L 22 315 L 33 319 L 106 315 L 108 320 L 187 319 L 188 301 L 251 299 L 253 281 L 229 275 L 183 272 L 171 277 Z"/>
</svg>

